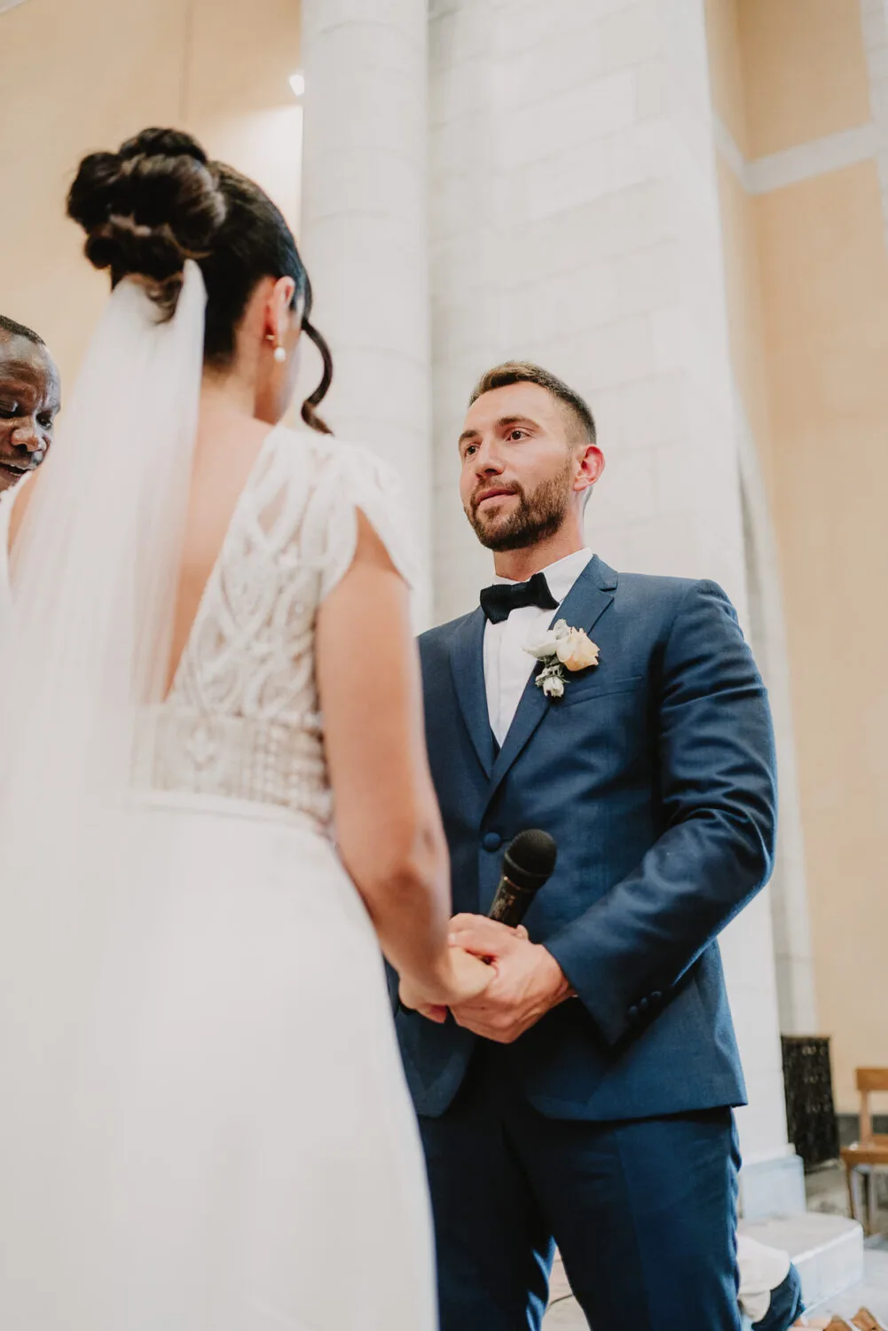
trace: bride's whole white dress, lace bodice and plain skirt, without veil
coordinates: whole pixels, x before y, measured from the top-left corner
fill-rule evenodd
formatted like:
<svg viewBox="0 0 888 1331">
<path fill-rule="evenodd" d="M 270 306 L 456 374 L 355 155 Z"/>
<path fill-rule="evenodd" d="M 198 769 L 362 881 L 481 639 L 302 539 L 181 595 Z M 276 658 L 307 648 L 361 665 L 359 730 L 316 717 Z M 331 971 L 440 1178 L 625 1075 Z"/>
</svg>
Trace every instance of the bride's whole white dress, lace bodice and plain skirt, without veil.
<svg viewBox="0 0 888 1331">
<path fill-rule="evenodd" d="M 425 1167 L 337 857 L 314 623 L 389 473 L 276 429 L 162 705 L 28 1331 L 433 1331 Z M 359 646 L 355 644 L 355 651 Z"/>
</svg>

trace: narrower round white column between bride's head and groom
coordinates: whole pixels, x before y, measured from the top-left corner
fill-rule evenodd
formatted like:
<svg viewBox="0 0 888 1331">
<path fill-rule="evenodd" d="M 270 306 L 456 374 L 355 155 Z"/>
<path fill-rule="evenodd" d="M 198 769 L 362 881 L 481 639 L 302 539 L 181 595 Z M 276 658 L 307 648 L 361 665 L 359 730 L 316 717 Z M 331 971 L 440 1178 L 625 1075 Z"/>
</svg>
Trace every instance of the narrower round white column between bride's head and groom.
<svg viewBox="0 0 888 1331">
<path fill-rule="evenodd" d="M 302 0 L 302 65 L 301 240 L 335 362 L 324 411 L 337 435 L 371 445 L 405 480 L 427 570 L 417 611 L 427 622 L 425 0 Z"/>
</svg>

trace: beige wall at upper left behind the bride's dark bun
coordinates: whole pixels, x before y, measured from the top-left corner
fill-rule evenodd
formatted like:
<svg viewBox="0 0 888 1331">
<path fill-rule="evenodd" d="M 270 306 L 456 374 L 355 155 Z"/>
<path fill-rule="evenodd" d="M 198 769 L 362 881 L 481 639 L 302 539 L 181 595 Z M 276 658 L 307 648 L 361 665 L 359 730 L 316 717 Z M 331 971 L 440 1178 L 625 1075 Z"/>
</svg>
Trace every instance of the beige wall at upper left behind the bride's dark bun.
<svg viewBox="0 0 888 1331">
<path fill-rule="evenodd" d="M 21 69 L 31 88 L 0 106 L 0 311 L 47 339 L 64 393 L 107 291 L 64 217 L 84 153 L 146 125 L 182 126 L 296 222 L 301 110 L 288 77 L 300 64 L 298 4 L 25 0 L 0 17 L 0 47 L 4 69 Z"/>
</svg>

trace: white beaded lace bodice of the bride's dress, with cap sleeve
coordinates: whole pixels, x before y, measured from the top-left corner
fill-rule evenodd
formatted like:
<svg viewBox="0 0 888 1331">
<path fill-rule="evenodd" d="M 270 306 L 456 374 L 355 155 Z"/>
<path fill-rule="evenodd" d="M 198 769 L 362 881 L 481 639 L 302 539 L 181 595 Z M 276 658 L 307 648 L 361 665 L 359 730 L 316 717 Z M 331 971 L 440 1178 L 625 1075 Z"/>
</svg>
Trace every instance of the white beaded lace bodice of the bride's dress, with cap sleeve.
<svg viewBox="0 0 888 1331">
<path fill-rule="evenodd" d="M 407 575 L 397 491 L 367 449 L 272 431 L 169 695 L 142 715 L 136 787 L 278 805 L 330 832 L 316 616 L 354 558 L 358 508 Z"/>
</svg>

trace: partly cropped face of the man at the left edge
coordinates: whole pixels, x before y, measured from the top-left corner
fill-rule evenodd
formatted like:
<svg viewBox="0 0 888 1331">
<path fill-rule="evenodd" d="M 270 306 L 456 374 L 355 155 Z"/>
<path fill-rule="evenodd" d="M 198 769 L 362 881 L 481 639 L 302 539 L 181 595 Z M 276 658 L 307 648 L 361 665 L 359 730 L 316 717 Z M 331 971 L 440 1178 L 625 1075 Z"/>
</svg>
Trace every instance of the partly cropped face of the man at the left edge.
<svg viewBox="0 0 888 1331">
<path fill-rule="evenodd" d="M 45 346 L 0 329 L 0 490 L 47 457 L 59 406 L 59 371 Z"/>
</svg>

